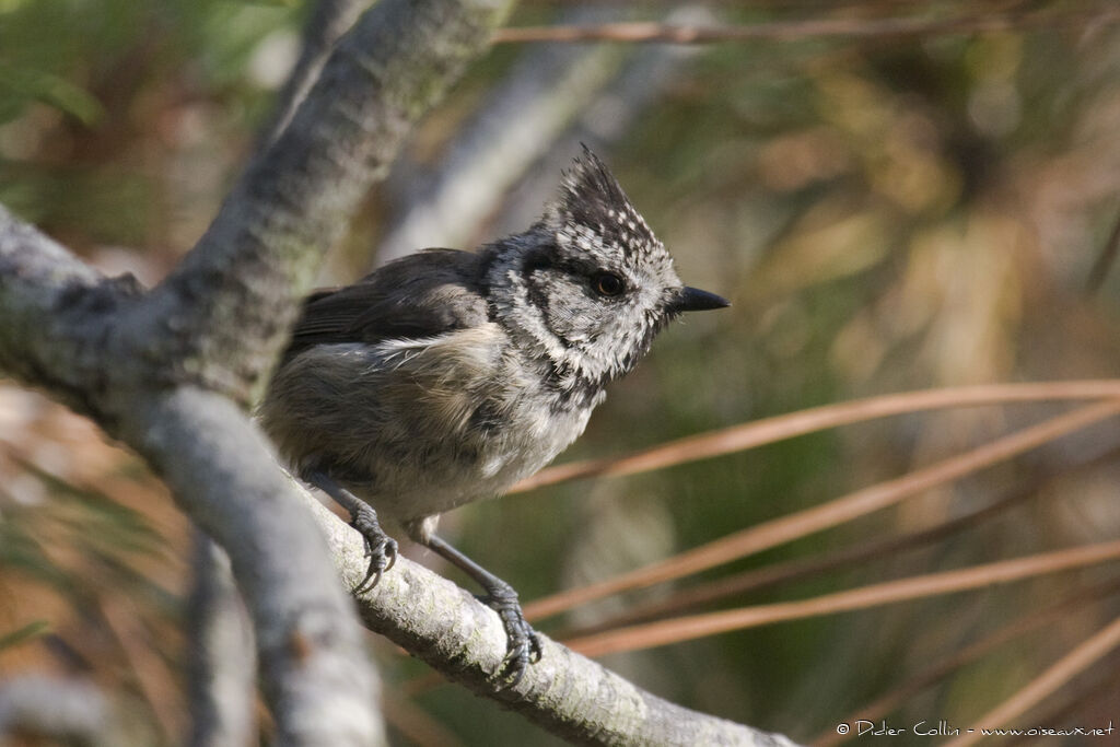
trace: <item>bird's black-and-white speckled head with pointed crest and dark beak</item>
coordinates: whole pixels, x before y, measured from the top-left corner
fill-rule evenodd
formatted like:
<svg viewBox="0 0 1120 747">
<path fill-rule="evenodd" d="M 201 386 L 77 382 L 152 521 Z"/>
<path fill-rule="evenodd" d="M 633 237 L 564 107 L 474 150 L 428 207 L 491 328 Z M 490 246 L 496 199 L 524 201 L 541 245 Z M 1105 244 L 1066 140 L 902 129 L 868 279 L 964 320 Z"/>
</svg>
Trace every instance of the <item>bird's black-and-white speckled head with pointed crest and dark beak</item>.
<svg viewBox="0 0 1120 747">
<path fill-rule="evenodd" d="M 728 305 L 681 282 L 665 246 L 586 147 L 543 217 L 487 251 L 497 318 L 543 348 L 572 389 L 598 391 L 631 371 L 679 314 Z"/>
</svg>

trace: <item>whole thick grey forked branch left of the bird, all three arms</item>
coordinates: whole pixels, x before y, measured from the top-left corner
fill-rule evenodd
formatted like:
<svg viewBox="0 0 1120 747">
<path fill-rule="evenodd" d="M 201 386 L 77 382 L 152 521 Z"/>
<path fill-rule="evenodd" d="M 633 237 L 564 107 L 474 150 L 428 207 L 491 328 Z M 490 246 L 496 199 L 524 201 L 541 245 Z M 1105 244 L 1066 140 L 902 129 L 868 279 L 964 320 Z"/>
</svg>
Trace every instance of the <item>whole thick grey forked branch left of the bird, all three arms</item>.
<svg viewBox="0 0 1120 747">
<path fill-rule="evenodd" d="M 100 277 L 0 208 L 0 368 L 136 449 L 227 552 L 281 744 L 370 745 L 384 734 L 323 538 L 242 408 L 358 198 L 507 7 L 384 0 L 366 12 L 150 292 Z"/>
</svg>

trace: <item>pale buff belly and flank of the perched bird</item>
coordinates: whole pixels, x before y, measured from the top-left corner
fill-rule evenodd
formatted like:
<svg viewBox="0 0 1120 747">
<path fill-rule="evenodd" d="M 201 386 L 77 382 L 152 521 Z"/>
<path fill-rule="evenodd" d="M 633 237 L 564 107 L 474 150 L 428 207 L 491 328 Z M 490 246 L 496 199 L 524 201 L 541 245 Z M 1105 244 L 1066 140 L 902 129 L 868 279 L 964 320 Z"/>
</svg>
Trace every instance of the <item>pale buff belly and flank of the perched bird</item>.
<svg viewBox="0 0 1120 747">
<path fill-rule="evenodd" d="M 584 431 L 591 411 L 559 407 L 494 324 L 312 348 L 281 371 L 273 391 L 286 417 L 270 415 L 267 401 L 264 422 L 297 470 L 325 469 L 407 525 L 535 473 Z"/>
</svg>

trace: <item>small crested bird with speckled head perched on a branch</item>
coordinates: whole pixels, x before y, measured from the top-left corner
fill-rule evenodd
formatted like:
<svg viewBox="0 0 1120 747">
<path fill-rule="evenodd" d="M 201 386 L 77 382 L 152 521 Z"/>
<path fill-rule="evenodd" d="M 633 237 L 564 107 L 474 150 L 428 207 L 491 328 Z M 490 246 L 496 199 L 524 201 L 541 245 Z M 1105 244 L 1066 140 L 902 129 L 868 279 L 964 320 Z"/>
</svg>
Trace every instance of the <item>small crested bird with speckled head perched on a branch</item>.
<svg viewBox="0 0 1120 747">
<path fill-rule="evenodd" d="M 526 231 L 476 252 L 423 250 L 312 292 L 259 418 L 289 469 L 364 536 L 360 589 L 396 559 L 382 520 L 482 586 L 507 639 L 495 675 L 512 687 L 540 660 L 540 638 L 514 588 L 436 533 L 439 516 L 544 467 L 670 321 L 726 306 L 681 282 L 584 146 Z"/>
</svg>

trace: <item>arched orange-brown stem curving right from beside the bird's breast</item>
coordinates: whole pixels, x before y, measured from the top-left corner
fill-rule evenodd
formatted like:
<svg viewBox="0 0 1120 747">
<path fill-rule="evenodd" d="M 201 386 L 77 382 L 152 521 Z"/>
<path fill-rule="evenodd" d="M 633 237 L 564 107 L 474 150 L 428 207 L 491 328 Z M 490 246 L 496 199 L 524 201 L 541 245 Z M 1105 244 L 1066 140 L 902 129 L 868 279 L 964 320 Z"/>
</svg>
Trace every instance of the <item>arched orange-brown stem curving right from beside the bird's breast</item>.
<svg viewBox="0 0 1120 747">
<path fill-rule="evenodd" d="M 764 418 L 740 426 L 668 441 L 618 457 L 558 465 L 542 469 L 536 475 L 523 479 L 514 485 L 510 493 L 521 493 L 581 477 L 619 477 L 652 471 L 689 461 L 744 451 L 828 428 L 924 410 L 1008 404 L 1011 402 L 1095 400 L 1108 396 L 1120 396 L 1120 380 L 980 384 L 884 394 Z"/>
</svg>

